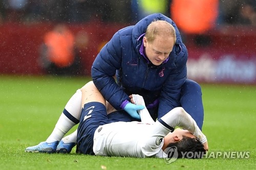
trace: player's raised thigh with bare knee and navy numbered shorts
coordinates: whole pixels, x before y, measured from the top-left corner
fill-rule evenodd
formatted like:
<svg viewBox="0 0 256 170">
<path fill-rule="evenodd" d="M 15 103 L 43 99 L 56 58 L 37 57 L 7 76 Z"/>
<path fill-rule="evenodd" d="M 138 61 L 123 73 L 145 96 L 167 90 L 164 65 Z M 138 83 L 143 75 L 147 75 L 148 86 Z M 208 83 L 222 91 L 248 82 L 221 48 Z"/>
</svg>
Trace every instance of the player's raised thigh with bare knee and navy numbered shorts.
<svg viewBox="0 0 256 170">
<path fill-rule="evenodd" d="M 106 112 L 106 103 L 95 87 L 89 82 L 81 89 L 82 91 L 82 113 L 77 129 L 77 153 L 93 155 L 93 137 L 95 130 L 109 123 Z"/>
</svg>

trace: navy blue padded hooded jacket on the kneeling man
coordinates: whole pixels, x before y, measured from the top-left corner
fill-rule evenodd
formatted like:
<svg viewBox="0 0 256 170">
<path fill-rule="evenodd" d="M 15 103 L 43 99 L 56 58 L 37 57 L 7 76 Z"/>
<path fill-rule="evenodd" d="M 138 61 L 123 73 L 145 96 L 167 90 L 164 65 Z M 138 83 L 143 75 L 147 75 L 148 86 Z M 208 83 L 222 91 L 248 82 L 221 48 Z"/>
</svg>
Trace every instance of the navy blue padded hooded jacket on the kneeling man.
<svg viewBox="0 0 256 170">
<path fill-rule="evenodd" d="M 143 39 L 141 35 L 155 19 L 171 23 L 177 36 L 168 61 L 159 66 L 148 62 L 139 52 Z M 123 28 L 114 34 L 93 62 L 92 79 L 104 98 L 117 110 L 121 109 L 122 102 L 130 101 L 129 95 L 140 94 L 146 106 L 159 101 L 158 117 L 161 117 L 180 106 L 181 86 L 187 76 L 187 56 L 187 49 L 174 21 L 162 14 L 152 14 L 135 26 Z"/>
</svg>

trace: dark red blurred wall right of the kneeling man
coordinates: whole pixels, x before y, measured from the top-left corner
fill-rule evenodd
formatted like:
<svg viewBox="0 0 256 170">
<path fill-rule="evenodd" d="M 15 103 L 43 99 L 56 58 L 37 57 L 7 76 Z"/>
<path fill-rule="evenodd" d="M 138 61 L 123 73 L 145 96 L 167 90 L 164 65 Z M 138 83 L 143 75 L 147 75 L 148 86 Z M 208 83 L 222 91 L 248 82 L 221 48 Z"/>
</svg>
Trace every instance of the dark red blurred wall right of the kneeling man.
<svg viewBox="0 0 256 170">
<path fill-rule="evenodd" d="M 187 35 L 185 45 L 188 58 L 198 58 L 202 53 L 209 53 L 214 59 L 233 54 L 239 59 L 256 59 L 256 27 L 222 27 L 211 30 L 207 35 L 210 44 L 197 45 L 195 35 Z"/>
</svg>

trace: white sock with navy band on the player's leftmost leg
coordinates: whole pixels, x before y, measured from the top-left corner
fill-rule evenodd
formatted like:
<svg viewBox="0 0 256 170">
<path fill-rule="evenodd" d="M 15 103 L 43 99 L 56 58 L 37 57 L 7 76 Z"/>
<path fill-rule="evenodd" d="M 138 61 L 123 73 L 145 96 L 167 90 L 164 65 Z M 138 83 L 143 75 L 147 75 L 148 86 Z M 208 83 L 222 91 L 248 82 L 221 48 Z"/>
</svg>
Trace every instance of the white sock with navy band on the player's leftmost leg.
<svg viewBox="0 0 256 170">
<path fill-rule="evenodd" d="M 80 89 L 70 98 L 61 113 L 51 135 L 46 142 L 60 141 L 61 138 L 76 124 L 79 123 L 81 115 L 82 92 Z"/>
</svg>

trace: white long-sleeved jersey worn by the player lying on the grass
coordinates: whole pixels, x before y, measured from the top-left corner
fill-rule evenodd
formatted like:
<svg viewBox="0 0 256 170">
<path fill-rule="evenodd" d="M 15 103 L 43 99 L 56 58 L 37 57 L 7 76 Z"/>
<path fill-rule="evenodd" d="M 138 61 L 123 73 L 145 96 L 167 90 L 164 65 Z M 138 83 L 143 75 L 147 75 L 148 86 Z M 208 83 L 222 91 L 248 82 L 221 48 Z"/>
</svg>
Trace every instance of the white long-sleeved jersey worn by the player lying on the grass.
<svg viewBox="0 0 256 170">
<path fill-rule="evenodd" d="M 144 105 L 142 96 L 133 95 L 136 104 Z M 116 122 L 99 126 L 94 133 L 93 152 L 102 156 L 164 158 L 163 138 L 179 126 L 204 143 L 205 135 L 183 108 L 175 108 L 159 118 L 151 118 L 147 109 L 139 111 L 142 122 Z"/>
</svg>

